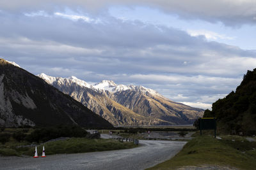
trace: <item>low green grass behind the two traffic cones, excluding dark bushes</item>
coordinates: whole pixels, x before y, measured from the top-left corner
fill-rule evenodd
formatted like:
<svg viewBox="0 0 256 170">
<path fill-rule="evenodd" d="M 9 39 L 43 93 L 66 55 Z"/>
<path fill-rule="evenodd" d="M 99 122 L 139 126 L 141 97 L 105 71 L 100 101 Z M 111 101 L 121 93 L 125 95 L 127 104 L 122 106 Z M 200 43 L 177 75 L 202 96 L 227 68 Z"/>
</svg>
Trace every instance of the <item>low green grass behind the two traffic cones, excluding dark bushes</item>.
<svg viewBox="0 0 256 170">
<path fill-rule="evenodd" d="M 32 131 L 35 131 L 35 129 L 6 128 L 3 132 L 13 134 L 14 132 L 19 131 L 24 131 L 26 134 L 29 134 Z M 33 156 L 35 147 L 19 147 L 24 145 L 31 145 L 31 143 L 27 141 L 18 142 L 11 136 L 10 141 L 6 142 L 4 145 L 0 143 L 0 155 Z M 121 143 L 113 139 L 70 138 L 64 141 L 52 141 L 38 146 L 38 155 L 42 155 L 43 146 L 45 146 L 46 155 L 53 155 L 58 153 L 84 153 L 105 150 L 120 150 L 134 148 L 137 145 L 134 145 L 133 143 Z"/>
</svg>

